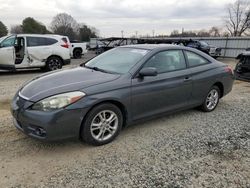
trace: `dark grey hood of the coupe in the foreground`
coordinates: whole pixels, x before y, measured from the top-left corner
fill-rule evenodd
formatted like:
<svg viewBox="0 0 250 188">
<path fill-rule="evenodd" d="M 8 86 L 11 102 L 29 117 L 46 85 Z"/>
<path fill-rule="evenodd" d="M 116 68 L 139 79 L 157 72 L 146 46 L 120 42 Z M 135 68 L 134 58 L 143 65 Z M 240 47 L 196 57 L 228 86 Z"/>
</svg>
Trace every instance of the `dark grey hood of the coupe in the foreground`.
<svg viewBox="0 0 250 188">
<path fill-rule="evenodd" d="M 110 82 L 119 77 L 118 74 L 78 67 L 35 77 L 20 89 L 19 94 L 26 100 L 36 102 L 52 95 L 84 90 L 89 86 Z"/>
</svg>

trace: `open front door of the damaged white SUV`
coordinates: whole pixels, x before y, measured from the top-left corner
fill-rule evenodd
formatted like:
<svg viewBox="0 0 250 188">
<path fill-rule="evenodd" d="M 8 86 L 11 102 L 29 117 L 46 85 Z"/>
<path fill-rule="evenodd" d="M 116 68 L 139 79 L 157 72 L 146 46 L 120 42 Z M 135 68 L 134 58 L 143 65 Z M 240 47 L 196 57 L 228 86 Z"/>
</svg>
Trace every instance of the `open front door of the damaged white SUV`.
<svg viewBox="0 0 250 188">
<path fill-rule="evenodd" d="M 15 39 L 16 36 L 12 35 L 0 43 L 0 67 L 2 68 L 15 67 Z"/>
</svg>

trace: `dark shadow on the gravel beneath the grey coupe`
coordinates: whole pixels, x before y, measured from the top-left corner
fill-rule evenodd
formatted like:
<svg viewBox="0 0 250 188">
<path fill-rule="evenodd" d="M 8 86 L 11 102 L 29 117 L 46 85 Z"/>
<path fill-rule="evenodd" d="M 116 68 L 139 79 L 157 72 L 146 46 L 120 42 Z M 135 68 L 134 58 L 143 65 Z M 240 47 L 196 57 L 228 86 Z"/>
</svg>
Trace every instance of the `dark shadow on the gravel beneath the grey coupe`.
<svg viewBox="0 0 250 188">
<path fill-rule="evenodd" d="M 88 149 L 94 149 L 95 148 L 106 148 L 106 147 L 112 147 L 116 145 L 120 145 L 123 143 L 124 140 L 127 140 L 127 136 L 130 138 L 129 134 L 131 132 L 136 133 L 140 132 L 142 129 L 147 130 L 152 128 L 152 126 L 162 126 L 162 123 L 171 121 L 172 119 L 178 119 L 180 116 L 185 116 L 188 114 L 192 113 L 199 113 L 198 110 L 196 109 L 189 109 L 189 110 L 184 110 L 181 112 L 173 113 L 173 114 L 166 114 L 166 115 L 159 115 L 147 119 L 143 119 L 140 121 L 137 121 L 129 126 L 126 126 L 122 129 L 121 133 L 119 134 L 118 138 L 116 138 L 113 142 L 103 145 L 103 146 L 92 146 L 89 144 L 84 143 L 81 141 L 81 139 L 65 139 L 65 140 L 60 140 L 60 141 L 40 141 L 36 140 L 34 138 L 30 138 L 28 136 L 25 136 L 22 139 L 21 145 L 26 148 L 33 148 L 33 151 L 37 152 L 48 152 L 52 151 L 52 153 L 57 153 L 57 152 L 74 152 L 76 150 L 88 150 Z M 203 112 L 200 112 L 203 113 Z M 165 123 L 164 123 L 165 124 Z M 184 125 L 183 125 L 184 126 Z"/>
</svg>

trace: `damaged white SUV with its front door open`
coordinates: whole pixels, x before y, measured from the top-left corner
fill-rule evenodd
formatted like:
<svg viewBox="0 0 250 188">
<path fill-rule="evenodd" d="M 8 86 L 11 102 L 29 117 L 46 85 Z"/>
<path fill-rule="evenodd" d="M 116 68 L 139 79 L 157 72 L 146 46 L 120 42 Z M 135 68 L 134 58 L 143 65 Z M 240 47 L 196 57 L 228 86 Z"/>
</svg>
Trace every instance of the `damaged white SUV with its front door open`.
<svg viewBox="0 0 250 188">
<path fill-rule="evenodd" d="M 66 36 L 18 34 L 0 38 L 0 69 L 61 69 L 70 63 Z"/>
</svg>

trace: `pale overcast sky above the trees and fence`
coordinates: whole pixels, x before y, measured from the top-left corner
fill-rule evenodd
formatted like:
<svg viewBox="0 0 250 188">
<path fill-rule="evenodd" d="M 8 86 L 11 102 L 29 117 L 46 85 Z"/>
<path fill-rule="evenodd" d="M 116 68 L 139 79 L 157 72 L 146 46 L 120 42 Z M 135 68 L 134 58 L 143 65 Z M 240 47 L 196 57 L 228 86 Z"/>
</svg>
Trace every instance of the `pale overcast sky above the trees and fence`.
<svg viewBox="0 0 250 188">
<path fill-rule="evenodd" d="M 96 27 L 102 36 L 169 34 L 172 30 L 223 26 L 234 0 L 0 0 L 0 20 L 8 26 L 33 17 L 47 27 L 57 13 Z"/>
</svg>

